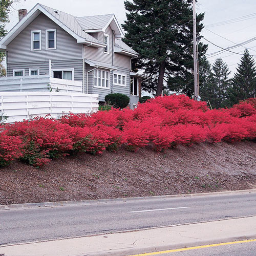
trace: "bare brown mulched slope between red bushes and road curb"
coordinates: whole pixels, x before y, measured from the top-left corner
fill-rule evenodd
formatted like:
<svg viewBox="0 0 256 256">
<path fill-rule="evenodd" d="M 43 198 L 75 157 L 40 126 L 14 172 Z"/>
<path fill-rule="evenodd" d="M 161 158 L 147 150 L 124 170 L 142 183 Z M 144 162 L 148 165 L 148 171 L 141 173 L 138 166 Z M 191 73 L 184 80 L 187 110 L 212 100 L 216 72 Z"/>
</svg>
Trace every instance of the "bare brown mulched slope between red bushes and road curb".
<svg viewBox="0 0 256 256">
<path fill-rule="evenodd" d="M 83 154 L 37 169 L 0 169 L 0 204 L 141 197 L 256 188 L 256 144 L 202 143 L 156 153 Z"/>
</svg>

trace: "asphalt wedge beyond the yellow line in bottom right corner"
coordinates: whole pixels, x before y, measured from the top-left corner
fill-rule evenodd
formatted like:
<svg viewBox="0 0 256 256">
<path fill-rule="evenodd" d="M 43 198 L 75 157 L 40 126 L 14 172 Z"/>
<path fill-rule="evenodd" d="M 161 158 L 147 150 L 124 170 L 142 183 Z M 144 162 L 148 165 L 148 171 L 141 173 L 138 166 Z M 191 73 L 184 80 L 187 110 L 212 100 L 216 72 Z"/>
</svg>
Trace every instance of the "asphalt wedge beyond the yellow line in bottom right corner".
<svg viewBox="0 0 256 256">
<path fill-rule="evenodd" d="M 156 256 L 255 256 L 256 242 L 242 244 L 221 245 L 216 247 L 200 248 L 188 251 L 159 253 Z"/>
</svg>

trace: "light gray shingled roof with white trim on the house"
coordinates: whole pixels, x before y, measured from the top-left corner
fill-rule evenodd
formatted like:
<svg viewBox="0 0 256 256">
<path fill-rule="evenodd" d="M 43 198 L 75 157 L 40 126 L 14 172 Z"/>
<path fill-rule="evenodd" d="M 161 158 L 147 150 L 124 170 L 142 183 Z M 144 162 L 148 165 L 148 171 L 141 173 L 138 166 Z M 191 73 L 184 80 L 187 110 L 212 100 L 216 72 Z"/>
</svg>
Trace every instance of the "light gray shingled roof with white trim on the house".
<svg viewBox="0 0 256 256">
<path fill-rule="evenodd" d="M 123 37 L 123 32 L 114 14 L 76 17 L 41 4 L 34 6 L 28 14 L 0 40 L 0 49 L 6 49 L 7 45 L 40 13 L 44 13 L 62 29 L 66 30 L 77 39 L 78 43 L 88 44 L 94 47 L 104 47 L 104 44 L 90 35 L 89 32 L 105 32 L 106 28 L 110 25 L 117 37 L 115 39 L 115 52 L 129 56 L 138 55 L 137 52 L 127 46 L 121 39 L 118 39 Z"/>
</svg>

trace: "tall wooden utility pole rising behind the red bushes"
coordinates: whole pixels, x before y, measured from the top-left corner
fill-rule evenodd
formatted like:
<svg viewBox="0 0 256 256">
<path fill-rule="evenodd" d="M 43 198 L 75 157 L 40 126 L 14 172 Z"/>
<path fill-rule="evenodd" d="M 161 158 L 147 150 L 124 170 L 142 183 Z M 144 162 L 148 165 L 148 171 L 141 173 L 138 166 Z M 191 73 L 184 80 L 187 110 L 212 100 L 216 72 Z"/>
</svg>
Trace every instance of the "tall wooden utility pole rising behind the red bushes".
<svg viewBox="0 0 256 256">
<path fill-rule="evenodd" d="M 196 19 L 196 0 L 193 0 L 193 43 L 194 43 L 194 87 L 195 100 L 198 99 L 198 59 L 197 59 L 197 19 Z"/>
</svg>

